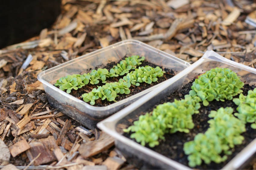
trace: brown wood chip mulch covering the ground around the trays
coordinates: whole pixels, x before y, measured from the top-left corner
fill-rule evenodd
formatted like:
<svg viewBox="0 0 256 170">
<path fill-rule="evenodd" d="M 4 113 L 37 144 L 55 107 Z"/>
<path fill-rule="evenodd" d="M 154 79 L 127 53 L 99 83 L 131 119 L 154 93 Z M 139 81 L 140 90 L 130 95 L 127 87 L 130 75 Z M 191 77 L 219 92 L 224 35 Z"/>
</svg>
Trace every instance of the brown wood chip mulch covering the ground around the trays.
<svg viewBox="0 0 256 170">
<path fill-rule="evenodd" d="M 249 0 L 62 0 L 52 28 L 0 50 L 0 151 L 9 155 L 0 168 L 136 169 L 113 138 L 50 106 L 37 75 L 126 39 L 189 63 L 214 50 L 255 67 L 256 29 L 245 22 L 255 9 Z"/>
</svg>

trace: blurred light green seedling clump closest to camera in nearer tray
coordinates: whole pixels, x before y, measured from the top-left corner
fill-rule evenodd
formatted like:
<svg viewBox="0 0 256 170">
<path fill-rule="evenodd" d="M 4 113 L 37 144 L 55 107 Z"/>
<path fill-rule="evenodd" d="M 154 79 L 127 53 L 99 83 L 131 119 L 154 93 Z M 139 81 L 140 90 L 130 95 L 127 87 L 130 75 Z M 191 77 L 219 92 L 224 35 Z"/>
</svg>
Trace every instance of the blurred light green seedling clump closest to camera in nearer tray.
<svg viewBox="0 0 256 170">
<path fill-rule="evenodd" d="M 230 148 L 242 143 L 244 137 L 240 134 L 245 132 L 245 124 L 232 113 L 231 107 L 211 111 L 209 117 L 213 119 L 208 121 L 210 127 L 205 134 L 199 133 L 193 141 L 184 144 L 183 150 L 189 155 L 189 166 L 201 165 L 202 160 L 206 164 L 223 162 L 227 159 L 226 155 L 232 153 Z"/>
</svg>

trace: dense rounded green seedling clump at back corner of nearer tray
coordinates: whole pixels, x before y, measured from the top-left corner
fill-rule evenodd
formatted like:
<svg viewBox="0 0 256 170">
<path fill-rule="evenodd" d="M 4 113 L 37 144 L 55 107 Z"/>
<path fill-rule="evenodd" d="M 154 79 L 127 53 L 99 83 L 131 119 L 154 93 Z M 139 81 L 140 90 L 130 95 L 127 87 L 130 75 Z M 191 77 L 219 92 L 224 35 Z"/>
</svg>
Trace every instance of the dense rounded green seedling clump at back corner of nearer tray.
<svg viewBox="0 0 256 170">
<path fill-rule="evenodd" d="M 240 81 L 235 72 L 228 68 L 216 67 L 205 72 L 195 79 L 189 94 L 197 95 L 208 106 L 209 101 L 232 100 L 233 96 L 241 93 L 244 83 Z"/>
</svg>

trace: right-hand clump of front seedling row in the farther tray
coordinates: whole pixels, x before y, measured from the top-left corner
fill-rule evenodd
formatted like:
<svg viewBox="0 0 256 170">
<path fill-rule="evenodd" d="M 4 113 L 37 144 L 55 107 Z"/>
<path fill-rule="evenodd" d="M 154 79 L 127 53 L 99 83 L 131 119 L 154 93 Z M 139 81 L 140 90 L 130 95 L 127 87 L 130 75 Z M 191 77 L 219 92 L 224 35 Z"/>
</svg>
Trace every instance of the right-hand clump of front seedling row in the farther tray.
<svg viewBox="0 0 256 170">
<path fill-rule="evenodd" d="M 146 82 L 151 84 L 152 82 L 156 82 L 158 80 L 157 77 L 161 77 L 164 75 L 164 71 L 160 67 L 139 67 L 134 71 L 131 71 L 126 76 L 123 77 L 123 80 L 128 82 L 130 81 L 132 85 L 139 86 L 139 83 Z"/>
</svg>

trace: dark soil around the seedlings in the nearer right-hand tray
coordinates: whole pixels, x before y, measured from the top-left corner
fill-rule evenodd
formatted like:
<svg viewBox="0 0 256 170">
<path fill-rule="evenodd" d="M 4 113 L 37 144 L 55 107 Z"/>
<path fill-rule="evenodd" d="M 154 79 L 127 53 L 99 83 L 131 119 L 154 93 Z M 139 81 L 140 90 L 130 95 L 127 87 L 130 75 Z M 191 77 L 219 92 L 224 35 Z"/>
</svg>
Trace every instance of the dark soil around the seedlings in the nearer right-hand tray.
<svg viewBox="0 0 256 170">
<path fill-rule="evenodd" d="M 168 96 L 165 100 L 162 100 L 159 102 L 164 103 L 164 102 L 173 102 L 174 99 L 180 100 L 183 99 L 186 94 L 189 94 L 190 87 L 192 86 L 192 80 L 188 84 L 184 85 L 182 88 L 179 90 L 174 91 L 170 96 Z M 245 84 L 244 87 L 242 88 L 243 94 L 247 95 L 247 92 L 249 90 L 253 90 L 256 86 L 248 85 Z M 234 98 L 238 97 L 239 95 L 235 96 Z M 194 114 L 193 117 L 193 122 L 195 124 L 195 127 L 190 130 L 189 133 L 173 133 L 173 134 L 165 134 L 165 141 L 161 141 L 160 145 L 150 148 L 149 146 L 146 146 L 147 148 L 156 151 L 172 160 L 175 160 L 183 165 L 188 166 L 188 160 L 187 160 L 187 155 L 183 151 L 183 145 L 185 142 L 194 140 L 195 135 L 198 133 L 204 133 L 208 127 L 209 124 L 207 121 L 210 119 L 208 115 L 210 114 L 211 110 L 217 110 L 220 107 L 232 107 L 234 109 L 234 112 L 236 112 L 237 106 L 233 101 L 227 100 L 225 102 L 221 101 L 212 101 L 209 102 L 210 104 L 208 106 L 203 106 L 201 104 L 201 108 L 199 109 L 198 114 Z M 153 108 L 152 108 L 153 109 Z M 151 110 L 152 110 L 151 109 Z M 151 111 L 148 110 L 148 111 Z M 126 121 L 127 124 L 129 124 L 129 121 Z M 128 123 L 129 122 L 129 123 Z M 129 126 L 132 125 L 132 123 L 129 124 Z M 223 166 L 225 166 L 233 157 L 235 157 L 240 151 L 242 151 L 243 148 L 245 148 L 246 145 L 248 145 L 253 139 L 256 138 L 256 130 L 252 129 L 250 127 L 250 123 L 246 124 L 246 132 L 242 133 L 244 136 L 244 141 L 241 145 L 236 145 L 235 148 L 232 149 L 232 154 L 228 156 L 228 159 L 225 162 L 216 164 L 216 163 L 210 163 L 210 164 L 205 164 L 202 163 L 201 166 L 196 166 L 195 169 L 221 169 Z M 131 133 L 130 133 L 131 134 Z M 130 134 L 123 133 L 124 136 L 130 138 Z M 132 139 L 135 141 L 134 139 Z"/>
</svg>

